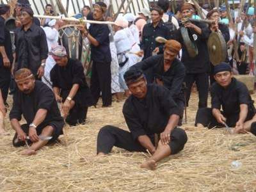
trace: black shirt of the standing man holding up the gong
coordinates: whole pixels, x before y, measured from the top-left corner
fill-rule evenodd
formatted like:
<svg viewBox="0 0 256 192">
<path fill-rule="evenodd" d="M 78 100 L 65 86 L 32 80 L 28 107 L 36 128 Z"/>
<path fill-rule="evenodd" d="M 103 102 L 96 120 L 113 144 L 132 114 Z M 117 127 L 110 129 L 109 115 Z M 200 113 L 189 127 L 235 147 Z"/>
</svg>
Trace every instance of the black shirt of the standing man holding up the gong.
<svg viewBox="0 0 256 192">
<path fill-rule="evenodd" d="M 209 54 L 207 49 L 207 40 L 211 33 L 211 30 L 207 28 L 204 23 L 196 22 L 194 23 L 196 26 L 202 29 L 202 34 L 198 35 L 195 30 L 189 29 L 189 36 L 193 39 L 195 36 L 196 46 L 198 48 L 198 55 L 195 58 L 191 58 L 188 54 L 188 49 L 184 44 L 184 40 L 180 33 L 180 28 L 175 31 L 175 40 L 182 44 L 182 58 L 181 61 L 184 63 L 186 67 L 187 74 L 196 74 L 196 73 L 203 73 L 209 72 L 210 69 L 210 61 L 209 61 Z M 195 39 L 194 38 L 194 39 Z"/>
</svg>

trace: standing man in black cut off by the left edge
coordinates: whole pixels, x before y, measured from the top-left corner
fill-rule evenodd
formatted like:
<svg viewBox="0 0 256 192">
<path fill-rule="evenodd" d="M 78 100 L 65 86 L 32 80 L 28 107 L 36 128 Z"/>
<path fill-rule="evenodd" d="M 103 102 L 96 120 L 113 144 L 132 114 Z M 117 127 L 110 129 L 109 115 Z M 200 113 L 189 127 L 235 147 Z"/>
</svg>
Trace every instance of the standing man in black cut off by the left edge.
<svg viewBox="0 0 256 192">
<path fill-rule="evenodd" d="M 8 97 L 13 62 L 10 31 L 4 26 L 4 21 L 8 17 L 10 17 L 10 6 L 7 4 L 0 4 L 0 89 L 3 95 L 4 104 Z"/>
</svg>

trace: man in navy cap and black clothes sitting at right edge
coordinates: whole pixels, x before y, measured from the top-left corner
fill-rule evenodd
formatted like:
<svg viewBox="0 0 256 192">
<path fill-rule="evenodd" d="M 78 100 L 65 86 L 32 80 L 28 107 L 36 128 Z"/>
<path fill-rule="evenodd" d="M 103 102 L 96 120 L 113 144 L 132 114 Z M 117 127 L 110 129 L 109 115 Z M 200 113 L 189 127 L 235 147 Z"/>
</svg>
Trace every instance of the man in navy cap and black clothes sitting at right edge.
<svg viewBox="0 0 256 192">
<path fill-rule="evenodd" d="M 211 86 L 212 108 L 198 109 L 196 126 L 211 129 L 227 124 L 228 127 L 235 127 L 236 133 L 252 131 L 251 125 L 256 122 L 256 111 L 245 84 L 233 77 L 227 63 L 214 67 L 214 79 L 216 82 Z M 220 110 L 221 106 L 223 111 Z"/>
</svg>

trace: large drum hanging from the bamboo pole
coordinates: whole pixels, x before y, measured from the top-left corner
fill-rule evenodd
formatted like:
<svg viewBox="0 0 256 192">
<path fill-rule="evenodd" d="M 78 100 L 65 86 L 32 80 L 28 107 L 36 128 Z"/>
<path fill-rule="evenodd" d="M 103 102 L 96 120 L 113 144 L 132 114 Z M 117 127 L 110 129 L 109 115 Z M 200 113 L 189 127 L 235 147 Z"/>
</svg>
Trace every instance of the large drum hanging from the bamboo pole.
<svg viewBox="0 0 256 192">
<path fill-rule="evenodd" d="M 69 58 L 81 60 L 83 50 L 83 37 L 79 25 L 68 24 L 59 29 L 60 44 L 65 47 Z"/>
</svg>

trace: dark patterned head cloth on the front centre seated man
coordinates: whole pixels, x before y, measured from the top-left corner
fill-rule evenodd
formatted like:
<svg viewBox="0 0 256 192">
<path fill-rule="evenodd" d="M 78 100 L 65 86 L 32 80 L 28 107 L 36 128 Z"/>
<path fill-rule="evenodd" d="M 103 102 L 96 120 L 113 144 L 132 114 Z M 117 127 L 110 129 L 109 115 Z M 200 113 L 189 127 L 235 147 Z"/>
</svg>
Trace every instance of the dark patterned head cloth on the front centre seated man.
<svg viewBox="0 0 256 192">
<path fill-rule="evenodd" d="M 141 79 L 145 79 L 145 76 L 142 72 L 142 70 L 137 68 L 132 68 L 127 70 L 124 74 L 124 80 L 127 86 L 129 86 L 132 83 L 136 83 L 140 81 Z"/>
</svg>

